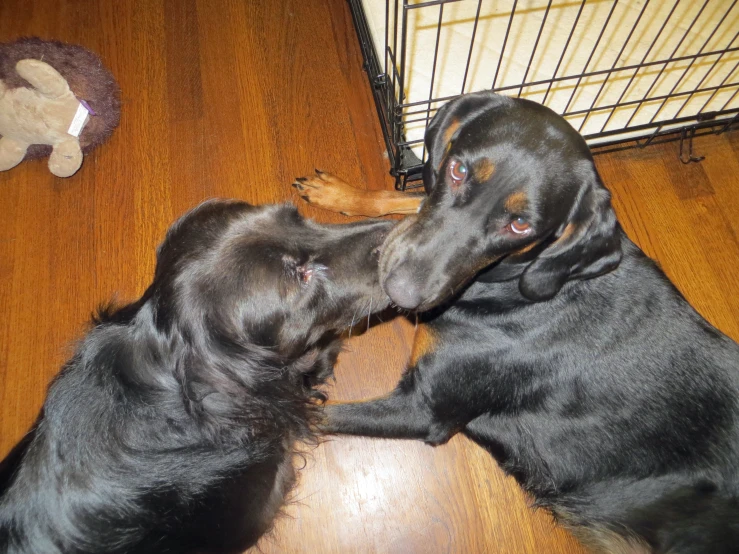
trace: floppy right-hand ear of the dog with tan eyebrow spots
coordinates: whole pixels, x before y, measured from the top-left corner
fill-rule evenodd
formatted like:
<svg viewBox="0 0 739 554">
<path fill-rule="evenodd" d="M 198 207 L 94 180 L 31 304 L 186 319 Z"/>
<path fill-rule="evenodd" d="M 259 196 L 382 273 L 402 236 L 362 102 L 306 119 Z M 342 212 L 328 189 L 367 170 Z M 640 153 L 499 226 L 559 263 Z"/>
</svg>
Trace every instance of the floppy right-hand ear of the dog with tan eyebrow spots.
<svg viewBox="0 0 739 554">
<path fill-rule="evenodd" d="M 621 261 L 621 238 L 611 195 L 594 170 L 588 180 L 558 238 L 521 276 L 521 293 L 531 300 L 548 300 L 570 279 L 596 277 Z"/>
</svg>

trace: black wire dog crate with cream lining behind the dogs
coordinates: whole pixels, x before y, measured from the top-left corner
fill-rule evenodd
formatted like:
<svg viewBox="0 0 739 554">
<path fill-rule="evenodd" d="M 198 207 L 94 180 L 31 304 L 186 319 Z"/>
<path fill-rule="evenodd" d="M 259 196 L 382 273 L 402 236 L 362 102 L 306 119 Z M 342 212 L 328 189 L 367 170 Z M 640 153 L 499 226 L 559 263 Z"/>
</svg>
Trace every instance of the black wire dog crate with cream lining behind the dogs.
<svg viewBox="0 0 739 554">
<path fill-rule="evenodd" d="M 436 110 L 485 89 L 552 108 L 596 154 L 680 139 L 699 160 L 694 136 L 738 123 L 738 2 L 349 0 L 401 190 Z"/>
</svg>

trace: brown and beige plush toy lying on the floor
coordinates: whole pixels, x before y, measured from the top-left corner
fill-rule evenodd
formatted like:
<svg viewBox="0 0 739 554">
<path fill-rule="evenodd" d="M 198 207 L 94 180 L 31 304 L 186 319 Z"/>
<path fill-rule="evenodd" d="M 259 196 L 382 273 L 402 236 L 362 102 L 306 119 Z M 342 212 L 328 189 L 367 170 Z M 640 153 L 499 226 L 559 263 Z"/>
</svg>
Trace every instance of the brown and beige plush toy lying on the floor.
<svg viewBox="0 0 739 554">
<path fill-rule="evenodd" d="M 23 38 L 0 44 L 0 171 L 49 156 L 58 177 L 120 120 L 120 89 L 95 54 L 72 44 Z"/>
</svg>

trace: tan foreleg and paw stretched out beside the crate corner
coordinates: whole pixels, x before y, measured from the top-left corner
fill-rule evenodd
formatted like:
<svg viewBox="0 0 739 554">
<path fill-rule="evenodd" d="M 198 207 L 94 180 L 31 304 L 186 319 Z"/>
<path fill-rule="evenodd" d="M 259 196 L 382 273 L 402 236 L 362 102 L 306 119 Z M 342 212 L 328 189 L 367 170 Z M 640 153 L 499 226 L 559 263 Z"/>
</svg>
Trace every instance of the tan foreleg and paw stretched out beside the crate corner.
<svg viewBox="0 0 739 554">
<path fill-rule="evenodd" d="M 311 205 L 344 215 L 380 217 L 390 214 L 414 214 L 423 201 L 421 192 L 360 190 L 330 173 L 316 170 L 315 175 L 299 177 L 293 183 L 300 197 Z"/>
</svg>

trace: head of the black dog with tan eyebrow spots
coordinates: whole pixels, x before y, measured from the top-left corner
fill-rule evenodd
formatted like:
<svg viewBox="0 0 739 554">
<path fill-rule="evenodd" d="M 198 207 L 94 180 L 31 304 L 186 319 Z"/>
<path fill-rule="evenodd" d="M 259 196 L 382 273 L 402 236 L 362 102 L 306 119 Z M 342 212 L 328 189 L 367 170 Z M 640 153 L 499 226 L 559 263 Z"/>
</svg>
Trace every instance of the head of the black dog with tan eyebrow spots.
<svg viewBox="0 0 739 554">
<path fill-rule="evenodd" d="M 583 138 L 550 109 L 469 94 L 438 111 L 425 140 L 428 198 L 380 260 L 398 305 L 434 307 L 493 264 L 534 301 L 618 265 L 610 194 Z"/>
</svg>

